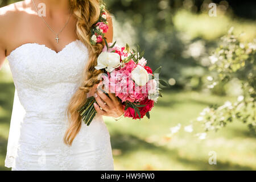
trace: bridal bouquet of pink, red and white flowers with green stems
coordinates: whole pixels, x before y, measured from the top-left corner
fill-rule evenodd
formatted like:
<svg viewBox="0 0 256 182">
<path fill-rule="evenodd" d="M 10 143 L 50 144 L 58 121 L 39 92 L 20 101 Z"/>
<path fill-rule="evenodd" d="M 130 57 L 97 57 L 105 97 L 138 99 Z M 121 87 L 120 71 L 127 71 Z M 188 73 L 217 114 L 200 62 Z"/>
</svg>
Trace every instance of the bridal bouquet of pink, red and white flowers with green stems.
<svg viewBox="0 0 256 182">
<path fill-rule="evenodd" d="M 149 119 L 149 111 L 154 107 L 154 102 L 159 96 L 162 97 L 159 83 L 168 85 L 158 77 L 161 67 L 152 72 L 151 68 L 146 66 L 147 60 L 143 54 L 144 51 L 141 51 L 139 46 L 135 51 L 130 50 L 128 44 L 122 47 L 116 43 L 105 42 L 95 67 L 104 70 L 101 75 L 104 85 L 102 90 L 114 93 L 122 102 L 125 117 L 133 119 L 141 119 L 144 115 Z M 82 121 L 88 126 L 96 115 L 94 102 L 95 98 L 89 97 L 79 110 Z"/>
</svg>

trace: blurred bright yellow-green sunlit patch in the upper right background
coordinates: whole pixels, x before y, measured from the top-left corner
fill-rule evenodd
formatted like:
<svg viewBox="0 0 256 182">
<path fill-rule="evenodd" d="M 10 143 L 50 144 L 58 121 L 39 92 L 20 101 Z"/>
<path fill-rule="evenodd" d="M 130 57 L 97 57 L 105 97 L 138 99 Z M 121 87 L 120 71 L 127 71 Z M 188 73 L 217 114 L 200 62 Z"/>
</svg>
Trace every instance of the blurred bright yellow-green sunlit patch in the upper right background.
<svg viewBox="0 0 256 182">
<path fill-rule="evenodd" d="M 242 40 L 251 41 L 256 37 L 255 21 L 232 19 L 226 15 L 210 17 L 207 13 L 193 14 L 180 10 L 174 15 L 173 20 L 177 30 L 185 32 L 191 39 L 214 40 L 226 34 L 230 27 L 234 27 L 235 35 L 245 33 Z"/>
</svg>

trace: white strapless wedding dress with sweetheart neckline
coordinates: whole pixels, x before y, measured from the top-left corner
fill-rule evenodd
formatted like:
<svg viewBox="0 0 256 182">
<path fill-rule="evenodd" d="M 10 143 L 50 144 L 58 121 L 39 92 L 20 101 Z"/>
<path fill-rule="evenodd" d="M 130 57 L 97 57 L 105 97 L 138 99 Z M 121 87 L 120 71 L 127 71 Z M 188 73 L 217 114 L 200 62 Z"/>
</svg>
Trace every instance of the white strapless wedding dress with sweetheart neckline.
<svg viewBox="0 0 256 182">
<path fill-rule="evenodd" d="M 7 56 L 15 85 L 5 166 L 12 170 L 113 170 L 109 131 L 101 115 L 63 142 L 66 109 L 88 60 L 80 40 L 60 52 L 27 43 Z"/>
</svg>

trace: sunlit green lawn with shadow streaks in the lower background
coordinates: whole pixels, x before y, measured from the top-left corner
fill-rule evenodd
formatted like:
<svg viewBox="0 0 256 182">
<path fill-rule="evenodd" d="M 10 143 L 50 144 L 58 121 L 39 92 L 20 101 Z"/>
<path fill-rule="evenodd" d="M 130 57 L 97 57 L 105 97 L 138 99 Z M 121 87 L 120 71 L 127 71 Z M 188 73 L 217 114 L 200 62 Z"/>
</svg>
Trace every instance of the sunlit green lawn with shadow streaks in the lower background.
<svg viewBox="0 0 256 182">
<path fill-rule="evenodd" d="M 14 85 L 0 83 L 0 169 L 4 167 Z M 110 131 L 115 170 L 255 170 L 256 139 L 245 125 L 230 123 L 210 133 L 205 140 L 181 130 L 167 138 L 170 127 L 189 125 L 209 104 L 222 104 L 229 97 L 197 92 L 164 92 L 151 112 L 141 121 L 105 118 Z M 208 163 L 209 151 L 217 153 L 217 164 Z"/>
</svg>

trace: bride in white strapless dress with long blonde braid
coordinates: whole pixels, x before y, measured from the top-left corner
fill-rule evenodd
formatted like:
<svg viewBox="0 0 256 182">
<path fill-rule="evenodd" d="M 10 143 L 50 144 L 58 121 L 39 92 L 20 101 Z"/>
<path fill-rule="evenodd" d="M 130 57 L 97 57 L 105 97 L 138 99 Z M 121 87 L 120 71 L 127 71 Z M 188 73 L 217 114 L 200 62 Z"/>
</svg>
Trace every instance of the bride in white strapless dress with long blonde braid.
<svg viewBox="0 0 256 182">
<path fill-rule="evenodd" d="M 94 66 L 104 42 L 90 44 L 90 31 L 99 17 L 98 0 L 25 0 L 0 9 L 0 68 L 7 58 L 15 85 L 6 167 L 113 170 L 102 115 L 123 110 L 113 94 L 97 91 Z M 97 114 L 86 126 L 78 109 L 89 96 Z"/>
</svg>

